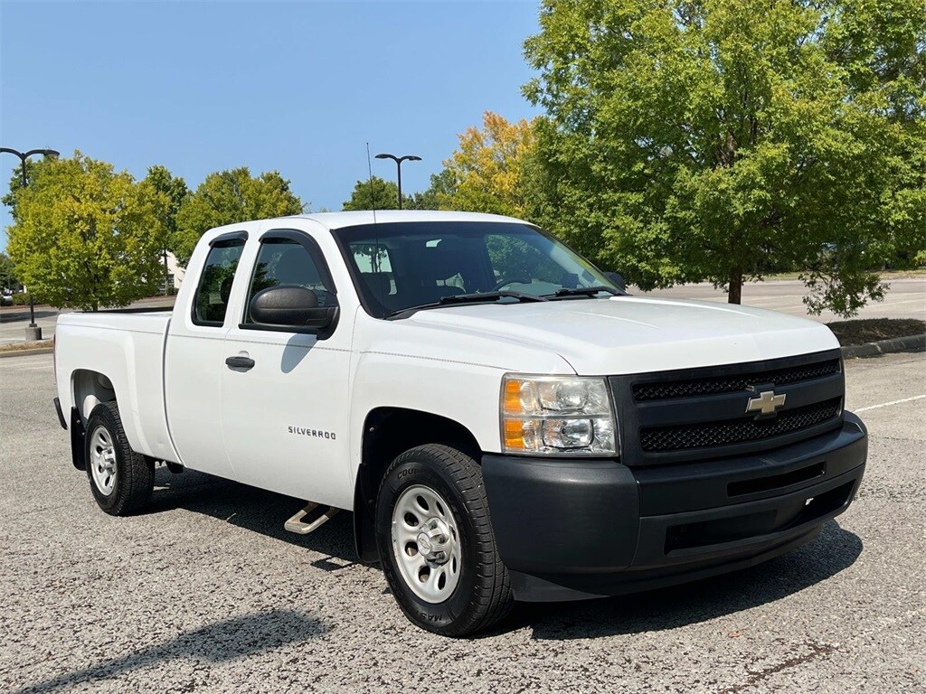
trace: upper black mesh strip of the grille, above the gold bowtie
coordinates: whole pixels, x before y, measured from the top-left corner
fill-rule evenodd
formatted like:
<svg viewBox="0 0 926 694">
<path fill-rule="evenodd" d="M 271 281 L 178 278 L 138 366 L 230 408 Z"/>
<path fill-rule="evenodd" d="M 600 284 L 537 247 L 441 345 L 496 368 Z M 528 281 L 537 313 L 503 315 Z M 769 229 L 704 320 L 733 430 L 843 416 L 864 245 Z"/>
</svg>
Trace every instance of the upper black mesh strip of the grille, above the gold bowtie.
<svg viewBox="0 0 926 694">
<path fill-rule="evenodd" d="M 783 386 L 786 383 L 798 383 L 837 373 L 839 373 L 839 360 L 831 359 L 817 364 L 778 368 L 771 371 L 760 371 L 755 374 L 732 374 L 731 376 L 713 376 L 682 381 L 665 381 L 663 383 L 637 383 L 633 386 L 633 400 L 645 402 L 669 400 L 671 398 L 691 398 L 698 395 L 749 390 L 754 385 L 765 383 Z"/>
</svg>

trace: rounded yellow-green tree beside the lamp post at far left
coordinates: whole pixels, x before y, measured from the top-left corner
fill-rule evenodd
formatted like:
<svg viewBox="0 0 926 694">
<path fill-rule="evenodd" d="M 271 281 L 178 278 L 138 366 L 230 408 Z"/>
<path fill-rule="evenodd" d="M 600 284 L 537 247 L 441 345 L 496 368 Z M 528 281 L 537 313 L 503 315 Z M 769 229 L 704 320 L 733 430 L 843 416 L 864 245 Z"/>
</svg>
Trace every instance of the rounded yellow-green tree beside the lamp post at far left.
<svg viewBox="0 0 926 694">
<path fill-rule="evenodd" d="M 124 306 L 160 280 L 158 211 L 150 185 L 75 152 L 36 167 L 16 193 L 7 251 L 19 279 L 50 304 Z"/>
</svg>

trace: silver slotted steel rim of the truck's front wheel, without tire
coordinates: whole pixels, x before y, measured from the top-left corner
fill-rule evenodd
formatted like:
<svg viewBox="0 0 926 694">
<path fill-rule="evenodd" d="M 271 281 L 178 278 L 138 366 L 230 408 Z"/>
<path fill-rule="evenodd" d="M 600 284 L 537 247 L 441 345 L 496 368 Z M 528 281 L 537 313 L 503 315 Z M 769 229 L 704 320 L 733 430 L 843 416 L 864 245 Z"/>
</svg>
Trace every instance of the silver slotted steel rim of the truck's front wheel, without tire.
<svg viewBox="0 0 926 694">
<path fill-rule="evenodd" d="M 406 585 L 437 604 L 453 595 L 463 561 L 457 521 L 444 498 L 423 485 L 405 490 L 393 508 L 393 553 Z"/>
</svg>

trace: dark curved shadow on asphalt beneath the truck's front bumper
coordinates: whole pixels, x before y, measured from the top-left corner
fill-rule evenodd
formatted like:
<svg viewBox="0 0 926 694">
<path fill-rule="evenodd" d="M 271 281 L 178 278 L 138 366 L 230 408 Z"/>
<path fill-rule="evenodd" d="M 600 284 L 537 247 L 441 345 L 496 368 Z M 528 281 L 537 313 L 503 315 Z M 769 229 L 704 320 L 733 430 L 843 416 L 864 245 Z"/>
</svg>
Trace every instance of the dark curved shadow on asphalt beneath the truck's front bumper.
<svg viewBox="0 0 926 694">
<path fill-rule="evenodd" d="M 765 564 L 616 598 L 519 603 L 504 629 L 527 627 L 533 638 L 556 640 L 675 629 L 786 598 L 848 568 L 861 551 L 857 535 L 830 521 L 818 538 Z"/>
</svg>

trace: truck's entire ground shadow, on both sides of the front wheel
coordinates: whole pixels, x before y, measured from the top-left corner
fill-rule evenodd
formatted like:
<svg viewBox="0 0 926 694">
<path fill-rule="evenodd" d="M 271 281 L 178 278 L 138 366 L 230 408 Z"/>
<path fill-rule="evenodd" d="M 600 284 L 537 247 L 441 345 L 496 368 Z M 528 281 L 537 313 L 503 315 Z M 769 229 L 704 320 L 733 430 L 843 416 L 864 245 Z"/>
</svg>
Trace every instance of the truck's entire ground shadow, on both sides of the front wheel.
<svg viewBox="0 0 926 694">
<path fill-rule="evenodd" d="M 315 568 L 338 571 L 357 563 L 351 514 L 338 514 L 306 536 L 283 529 L 303 502 L 220 477 L 158 468 L 148 513 L 184 509 L 326 555 Z M 593 601 L 517 603 L 502 624 L 480 635 L 492 637 L 530 628 L 532 638 L 563 640 L 631 635 L 706 622 L 782 600 L 855 563 L 862 551 L 857 535 L 826 523 L 807 545 L 765 564 L 684 584 L 681 587 Z"/>
</svg>

